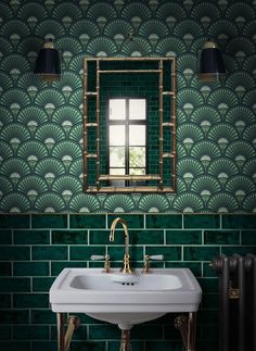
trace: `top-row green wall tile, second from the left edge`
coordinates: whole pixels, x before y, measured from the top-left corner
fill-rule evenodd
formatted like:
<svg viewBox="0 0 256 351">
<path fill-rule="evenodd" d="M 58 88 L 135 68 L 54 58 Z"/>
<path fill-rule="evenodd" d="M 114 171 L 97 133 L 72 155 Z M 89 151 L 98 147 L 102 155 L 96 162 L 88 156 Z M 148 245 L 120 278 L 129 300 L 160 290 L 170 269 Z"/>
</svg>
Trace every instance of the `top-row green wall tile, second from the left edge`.
<svg viewBox="0 0 256 351">
<path fill-rule="evenodd" d="M 66 228 L 66 214 L 35 214 L 31 215 L 33 228 Z"/>
</svg>

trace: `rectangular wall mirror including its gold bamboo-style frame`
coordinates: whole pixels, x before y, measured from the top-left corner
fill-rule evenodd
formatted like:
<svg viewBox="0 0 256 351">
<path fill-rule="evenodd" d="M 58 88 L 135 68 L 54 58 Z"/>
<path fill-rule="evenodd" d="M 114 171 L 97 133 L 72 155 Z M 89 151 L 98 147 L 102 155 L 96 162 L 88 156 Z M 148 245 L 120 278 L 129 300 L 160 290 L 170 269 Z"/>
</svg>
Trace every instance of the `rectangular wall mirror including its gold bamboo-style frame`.
<svg viewBox="0 0 256 351">
<path fill-rule="evenodd" d="M 86 59 L 84 75 L 85 191 L 174 192 L 176 59 Z"/>
</svg>

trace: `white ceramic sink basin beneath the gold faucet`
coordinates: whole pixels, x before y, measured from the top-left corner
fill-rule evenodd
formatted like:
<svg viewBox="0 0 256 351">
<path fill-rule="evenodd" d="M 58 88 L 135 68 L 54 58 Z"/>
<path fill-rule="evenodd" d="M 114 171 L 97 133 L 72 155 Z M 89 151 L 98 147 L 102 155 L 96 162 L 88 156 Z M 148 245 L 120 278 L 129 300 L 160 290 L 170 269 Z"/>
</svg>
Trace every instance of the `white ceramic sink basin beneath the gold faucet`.
<svg viewBox="0 0 256 351">
<path fill-rule="evenodd" d="M 196 312 L 201 297 L 201 287 L 188 268 L 156 268 L 149 274 L 65 268 L 50 289 L 53 312 L 86 313 L 121 329 L 169 312 Z"/>
</svg>

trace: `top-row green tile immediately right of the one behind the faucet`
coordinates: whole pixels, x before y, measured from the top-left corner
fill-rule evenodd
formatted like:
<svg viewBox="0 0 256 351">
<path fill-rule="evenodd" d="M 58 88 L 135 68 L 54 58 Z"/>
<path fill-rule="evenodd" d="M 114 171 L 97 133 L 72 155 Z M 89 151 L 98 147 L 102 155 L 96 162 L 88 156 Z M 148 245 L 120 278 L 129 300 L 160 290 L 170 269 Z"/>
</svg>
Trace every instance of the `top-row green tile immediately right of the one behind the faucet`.
<svg viewBox="0 0 256 351">
<path fill-rule="evenodd" d="M 146 228 L 181 228 L 182 215 L 180 214 L 146 214 Z"/>
</svg>

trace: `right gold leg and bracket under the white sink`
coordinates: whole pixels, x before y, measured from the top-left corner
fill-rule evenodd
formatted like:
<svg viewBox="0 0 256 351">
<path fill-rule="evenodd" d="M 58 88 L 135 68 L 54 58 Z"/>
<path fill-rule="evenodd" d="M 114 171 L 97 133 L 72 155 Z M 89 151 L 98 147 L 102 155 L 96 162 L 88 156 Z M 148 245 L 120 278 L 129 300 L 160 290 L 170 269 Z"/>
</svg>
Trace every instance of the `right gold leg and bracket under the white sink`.
<svg viewBox="0 0 256 351">
<path fill-rule="evenodd" d="M 185 351 L 195 351 L 196 312 L 190 312 L 188 316 L 179 315 L 175 326 L 180 330 Z"/>
</svg>

